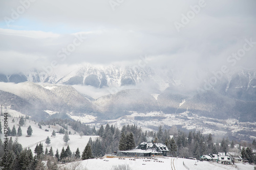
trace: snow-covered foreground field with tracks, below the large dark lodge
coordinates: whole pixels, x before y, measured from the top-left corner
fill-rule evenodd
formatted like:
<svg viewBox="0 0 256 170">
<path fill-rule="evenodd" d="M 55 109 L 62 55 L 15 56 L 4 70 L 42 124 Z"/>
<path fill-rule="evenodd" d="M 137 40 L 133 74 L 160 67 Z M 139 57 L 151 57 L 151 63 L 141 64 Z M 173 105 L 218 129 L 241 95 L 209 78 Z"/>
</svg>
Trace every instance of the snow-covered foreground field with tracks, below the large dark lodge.
<svg viewBox="0 0 256 170">
<path fill-rule="evenodd" d="M 126 164 L 131 167 L 133 170 L 150 170 L 150 169 L 166 169 L 166 170 L 187 170 L 184 164 L 189 168 L 189 170 L 253 170 L 254 166 L 250 164 L 237 163 L 234 165 L 224 165 L 216 162 L 207 162 L 191 160 L 191 159 L 182 159 L 182 158 L 170 158 L 170 157 L 155 157 L 154 159 L 140 158 L 133 159 L 131 158 L 103 158 L 103 159 L 89 159 L 79 161 L 80 169 L 88 170 L 109 170 L 113 165 Z M 145 161 L 146 160 L 146 161 Z M 160 162 L 159 162 L 160 161 Z M 173 164 L 171 164 L 173 162 Z M 195 165 L 197 162 L 197 165 Z M 70 167 L 75 163 L 68 163 L 66 165 L 60 165 L 61 167 Z M 78 164 L 78 163 L 77 163 Z"/>
</svg>

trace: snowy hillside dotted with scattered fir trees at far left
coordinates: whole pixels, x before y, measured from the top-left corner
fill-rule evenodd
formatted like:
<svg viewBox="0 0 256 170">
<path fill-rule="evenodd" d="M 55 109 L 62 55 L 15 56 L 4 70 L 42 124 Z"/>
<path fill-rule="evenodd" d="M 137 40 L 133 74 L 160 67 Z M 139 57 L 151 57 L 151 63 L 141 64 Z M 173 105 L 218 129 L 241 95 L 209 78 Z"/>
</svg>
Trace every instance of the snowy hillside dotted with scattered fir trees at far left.
<svg viewBox="0 0 256 170">
<path fill-rule="evenodd" d="M 1 116 L 1 119 L 3 119 L 4 116 Z M 12 129 L 13 125 L 15 126 L 16 130 L 18 129 L 18 118 L 14 118 L 15 122 L 12 122 L 12 117 L 8 118 L 8 126 Z M 32 135 L 27 136 L 27 129 L 29 125 L 32 127 Z M 3 124 L 2 124 L 3 126 Z M 18 142 L 22 144 L 23 148 L 31 148 L 32 152 L 34 152 L 34 149 L 36 147 L 36 144 L 39 144 L 40 142 L 44 146 L 44 150 L 48 148 L 48 151 L 50 148 L 53 148 L 53 152 L 55 154 L 56 150 L 58 149 L 59 153 L 61 152 L 62 147 L 65 149 L 67 148 L 67 145 L 63 141 L 63 134 L 56 133 L 55 137 L 51 137 L 53 130 L 55 132 L 58 132 L 60 128 L 59 125 L 56 126 L 50 126 L 50 128 L 47 126 L 42 126 L 42 129 L 39 128 L 38 123 L 35 124 L 32 120 L 26 120 L 25 126 L 21 127 L 22 128 L 22 136 L 18 137 Z M 4 127 L 2 127 L 3 129 Z M 45 131 L 45 129 L 49 129 L 49 132 Z M 71 128 L 68 129 L 68 131 L 71 131 L 71 135 L 69 135 L 69 147 L 72 152 L 75 152 L 77 148 L 79 148 L 80 153 L 82 153 L 83 149 L 86 147 L 86 144 L 89 141 L 89 138 L 92 137 L 92 139 L 96 139 L 98 136 L 82 136 L 82 138 L 79 136 L 78 133 L 74 134 L 75 131 L 72 130 Z M 45 143 L 45 140 L 47 136 L 50 137 L 51 143 L 49 144 L 49 147 L 47 147 L 47 144 Z M 9 136 L 8 138 L 10 138 Z M 1 135 L 1 139 L 3 141 L 4 135 Z M 12 140 L 15 140 L 15 136 L 12 136 Z"/>
</svg>

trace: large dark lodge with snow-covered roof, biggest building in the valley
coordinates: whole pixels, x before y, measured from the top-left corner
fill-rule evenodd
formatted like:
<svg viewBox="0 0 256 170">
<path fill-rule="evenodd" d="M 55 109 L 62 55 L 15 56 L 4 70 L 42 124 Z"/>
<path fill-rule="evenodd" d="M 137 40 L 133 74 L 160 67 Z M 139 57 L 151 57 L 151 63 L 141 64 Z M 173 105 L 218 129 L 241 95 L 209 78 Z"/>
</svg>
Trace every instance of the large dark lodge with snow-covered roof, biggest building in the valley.
<svg viewBox="0 0 256 170">
<path fill-rule="evenodd" d="M 117 156 L 151 156 L 151 155 L 167 156 L 168 152 L 169 152 L 168 148 L 163 143 L 142 142 L 134 150 L 118 151 Z"/>
</svg>

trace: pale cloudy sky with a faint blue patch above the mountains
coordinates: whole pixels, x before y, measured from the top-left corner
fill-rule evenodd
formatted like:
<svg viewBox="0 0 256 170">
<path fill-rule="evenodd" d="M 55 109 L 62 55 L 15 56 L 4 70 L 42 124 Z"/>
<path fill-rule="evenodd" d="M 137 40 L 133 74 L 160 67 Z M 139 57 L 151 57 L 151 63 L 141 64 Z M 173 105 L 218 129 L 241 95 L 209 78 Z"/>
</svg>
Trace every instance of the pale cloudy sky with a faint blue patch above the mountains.
<svg viewBox="0 0 256 170">
<path fill-rule="evenodd" d="M 227 61 L 245 39 L 256 42 L 255 0 L 1 0 L 0 11 L 4 74 L 52 62 L 62 69 L 136 64 L 140 56 L 148 56 L 151 66 L 186 71 L 256 68 L 256 44 L 236 64 Z"/>
</svg>

